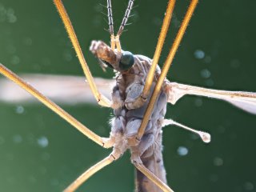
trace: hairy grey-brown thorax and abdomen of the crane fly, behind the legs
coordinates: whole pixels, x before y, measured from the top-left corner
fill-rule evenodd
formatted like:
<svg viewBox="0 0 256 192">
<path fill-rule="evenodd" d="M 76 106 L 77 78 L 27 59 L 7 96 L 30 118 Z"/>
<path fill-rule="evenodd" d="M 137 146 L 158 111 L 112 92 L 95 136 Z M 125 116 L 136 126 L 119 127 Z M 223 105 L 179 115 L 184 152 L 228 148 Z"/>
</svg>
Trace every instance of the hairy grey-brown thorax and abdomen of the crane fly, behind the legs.
<svg viewBox="0 0 256 192">
<path fill-rule="evenodd" d="M 138 146 L 132 146 L 129 143 L 129 139 L 138 133 L 138 128 L 141 125 L 149 99 L 139 108 L 128 109 L 129 107 L 127 106 L 142 93 L 146 74 L 150 69 L 152 61 L 150 58 L 142 55 L 134 55 L 134 60 L 134 66 L 130 70 L 127 70 L 125 73 L 118 73 L 116 76 L 116 85 L 113 88 L 112 99 L 113 102 L 121 104 L 114 110 L 110 135 L 115 137 L 118 142 L 121 140 L 127 141 L 127 148 L 130 148 L 131 153 L 138 153 L 144 165 L 163 182 L 166 182 L 166 171 L 162 162 L 162 120 L 166 114 L 167 102 L 165 91 L 162 90 L 158 97 L 141 142 Z M 155 81 L 159 74 L 160 69 L 158 68 L 155 73 Z M 149 98 L 153 93 L 155 81 L 151 87 Z M 137 174 L 138 189 L 141 189 L 138 191 L 146 191 L 147 187 L 158 191 L 157 186 L 154 186 L 153 183 L 149 184 L 148 178 L 139 172 Z"/>
</svg>

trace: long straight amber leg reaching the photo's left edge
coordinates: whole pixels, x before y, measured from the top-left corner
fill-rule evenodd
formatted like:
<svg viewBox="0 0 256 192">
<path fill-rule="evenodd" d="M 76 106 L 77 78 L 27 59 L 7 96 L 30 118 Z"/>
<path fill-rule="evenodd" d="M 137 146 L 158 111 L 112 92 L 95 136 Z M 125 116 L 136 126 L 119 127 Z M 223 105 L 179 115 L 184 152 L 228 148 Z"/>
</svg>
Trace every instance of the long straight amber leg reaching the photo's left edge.
<svg viewBox="0 0 256 192">
<path fill-rule="evenodd" d="M 17 74 L 14 74 L 12 71 L 8 70 L 5 66 L 0 64 L 0 73 L 9 78 L 11 81 L 21 86 L 24 90 L 32 94 L 35 98 L 38 98 L 40 102 L 53 110 L 56 114 L 61 116 L 66 122 L 69 122 L 72 126 L 74 126 L 77 130 L 85 134 L 88 138 L 98 143 L 100 146 L 104 146 L 104 142 L 98 134 L 94 134 L 91 130 L 89 130 L 86 126 L 82 125 L 81 122 L 78 122 L 75 118 L 73 118 L 70 114 L 68 114 L 65 110 L 62 110 L 60 106 L 50 101 L 49 98 L 46 98 L 43 94 L 41 94 L 38 90 L 34 89 L 33 86 L 30 86 L 26 83 L 22 78 L 19 78 Z"/>
</svg>

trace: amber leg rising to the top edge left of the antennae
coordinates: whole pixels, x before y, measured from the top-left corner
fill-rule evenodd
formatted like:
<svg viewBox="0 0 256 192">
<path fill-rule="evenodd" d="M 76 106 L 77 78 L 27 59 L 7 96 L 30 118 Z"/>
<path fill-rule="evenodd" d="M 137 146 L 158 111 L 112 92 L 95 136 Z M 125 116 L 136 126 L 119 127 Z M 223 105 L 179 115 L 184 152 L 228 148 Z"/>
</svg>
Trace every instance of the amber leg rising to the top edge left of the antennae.
<svg viewBox="0 0 256 192">
<path fill-rule="evenodd" d="M 82 54 L 82 50 L 79 45 L 78 38 L 77 38 L 76 34 L 74 33 L 74 28 L 70 22 L 70 18 L 68 16 L 68 14 L 66 13 L 66 9 L 63 6 L 62 0 L 54 0 L 54 4 L 57 7 L 58 13 L 60 14 L 60 17 L 62 18 L 62 21 L 64 22 L 66 31 L 69 34 L 70 40 L 74 46 L 74 50 L 78 54 L 79 62 L 81 63 L 82 70 L 83 70 L 84 74 L 86 75 L 87 81 L 90 85 L 90 89 L 92 90 L 92 92 L 94 94 L 94 98 L 96 98 L 99 105 L 111 107 L 110 100 L 108 98 L 106 98 L 104 95 L 99 93 L 97 86 L 94 82 L 94 78 L 90 74 L 90 70 L 86 63 L 86 59 L 84 58 L 84 56 Z"/>
</svg>

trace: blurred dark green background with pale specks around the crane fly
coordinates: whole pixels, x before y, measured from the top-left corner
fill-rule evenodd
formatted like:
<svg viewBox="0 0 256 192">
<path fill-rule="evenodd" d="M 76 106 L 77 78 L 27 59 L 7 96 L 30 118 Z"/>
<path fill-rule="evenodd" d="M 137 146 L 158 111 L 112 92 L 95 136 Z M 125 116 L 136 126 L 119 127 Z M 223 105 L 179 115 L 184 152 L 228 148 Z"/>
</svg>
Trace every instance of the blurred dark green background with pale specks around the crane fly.
<svg viewBox="0 0 256 192">
<path fill-rule="evenodd" d="M 166 58 L 190 1 L 178 1 L 162 52 Z M 135 1 L 122 48 L 152 57 L 165 1 Z M 109 42 L 103 0 L 65 0 L 92 74 L 103 73 L 89 53 L 90 42 Z M 113 1 L 116 28 L 127 1 Z M 172 81 L 223 90 L 256 91 L 256 1 L 200 1 L 168 74 Z M 66 31 L 50 0 L 0 0 L 0 61 L 17 73 L 82 75 Z M 2 77 L 1 77 L 2 78 Z M 1 87 L 0 87 L 1 91 Z M 63 106 L 79 121 L 108 136 L 111 110 L 93 105 Z M 256 191 L 255 123 L 226 102 L 182 98 L 168 105 L 167 118 L 209 131 L 204 144 L 193 134 L 164 129 L 163 154 L 169 185 L 186 191 Z M 187 152 L 187 153 L 186 153 Z M 104 150 L 42 104 L 0 103 L 0 191 L 61 191 L 83 170 L 105 158 Z M 78 191 L 133 191 L 134 168 L 126 153 L 90 178 Z"/>
</svg>

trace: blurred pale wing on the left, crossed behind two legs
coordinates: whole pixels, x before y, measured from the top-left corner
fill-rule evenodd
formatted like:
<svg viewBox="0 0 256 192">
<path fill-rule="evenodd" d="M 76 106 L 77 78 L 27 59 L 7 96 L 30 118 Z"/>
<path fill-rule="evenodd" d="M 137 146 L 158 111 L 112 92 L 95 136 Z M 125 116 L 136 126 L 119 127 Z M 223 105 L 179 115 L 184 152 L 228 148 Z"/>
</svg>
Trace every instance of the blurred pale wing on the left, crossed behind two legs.
<svg viewBox="0 0 256 192">
<path fill-rule="evenodd" d="M 24 74 L 21 75 L 26 82 L 36 87 L 46 97 L 65 105 L 78 103 L 96 104 L 94 95 L 90 91 L 85 78 L 66 75 Z M 95 78 L 95 82 L 102 94 L 110 98 L 113 79 Z M 36 101 L 25 90 L 13 82 L 0 78 L 0 102 L 34 102 Z"/>
</svg>

